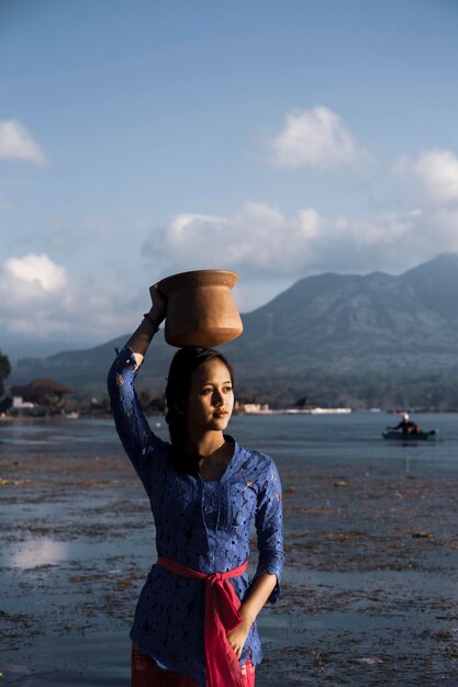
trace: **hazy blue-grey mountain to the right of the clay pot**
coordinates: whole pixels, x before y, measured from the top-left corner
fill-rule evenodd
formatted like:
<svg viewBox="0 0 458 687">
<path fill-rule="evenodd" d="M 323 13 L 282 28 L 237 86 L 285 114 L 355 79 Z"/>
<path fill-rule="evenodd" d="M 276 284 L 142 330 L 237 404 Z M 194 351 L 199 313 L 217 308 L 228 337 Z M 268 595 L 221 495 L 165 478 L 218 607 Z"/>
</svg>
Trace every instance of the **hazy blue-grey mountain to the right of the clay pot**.
<svg viewBox="0 0 458 687">
<path fill-rule="evenodd" d="M 234 361 L 327 371 L 422 370 L 455 364 L 458 255 L 404 274 L 335 273 L 297 282 L 244 316 Z"/>
</svg>

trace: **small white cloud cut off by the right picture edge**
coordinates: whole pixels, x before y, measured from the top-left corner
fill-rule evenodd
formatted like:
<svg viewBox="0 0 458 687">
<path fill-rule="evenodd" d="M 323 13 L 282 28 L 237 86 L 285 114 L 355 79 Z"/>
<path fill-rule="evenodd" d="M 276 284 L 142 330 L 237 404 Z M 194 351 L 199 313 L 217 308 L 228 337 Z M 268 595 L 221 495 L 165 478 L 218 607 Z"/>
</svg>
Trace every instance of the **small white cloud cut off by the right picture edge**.
<svg viewBox="0 0 458 687">
<path fill-rule="evenodd" d="M 395 171 L 416 179 L 426 199 L 433 203 L 458 201 L 458 158 L 449 150 L 426 150 L 414 160 L 402 157 Z"/>
</svg>

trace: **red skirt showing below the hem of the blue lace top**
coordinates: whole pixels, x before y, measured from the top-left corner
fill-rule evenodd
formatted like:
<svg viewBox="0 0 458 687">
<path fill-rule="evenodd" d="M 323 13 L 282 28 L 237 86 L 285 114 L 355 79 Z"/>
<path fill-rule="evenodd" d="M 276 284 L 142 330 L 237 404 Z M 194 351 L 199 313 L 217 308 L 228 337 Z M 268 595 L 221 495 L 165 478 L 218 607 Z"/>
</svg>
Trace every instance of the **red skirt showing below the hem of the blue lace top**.
<svg viewBox="0 0 458 687">
<path fill-rule="evenodd" d="M 242 666 L 244 687 L 255 687 L 255 666 L 248 658 Z M 159 668 L 157 663 L 142 654 L 137 644 L 132 644 L 131 687 L 197 687 L 192 677 Z"/>
</svg>

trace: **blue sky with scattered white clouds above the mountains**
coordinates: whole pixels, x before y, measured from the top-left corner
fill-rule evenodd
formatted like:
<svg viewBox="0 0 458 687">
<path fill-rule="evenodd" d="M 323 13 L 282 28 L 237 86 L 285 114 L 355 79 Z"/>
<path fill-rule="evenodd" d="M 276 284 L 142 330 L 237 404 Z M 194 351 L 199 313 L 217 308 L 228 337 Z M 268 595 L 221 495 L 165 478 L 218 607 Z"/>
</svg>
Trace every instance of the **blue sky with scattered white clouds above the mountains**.
<svg viewBox="0 0 458 687">
<path fill-rule="evenodd" d="M 458 249 L 454 0 L 0 0 L 0 348 L 134 328 L 148 286 L 241 309 Z"/>
</svg>

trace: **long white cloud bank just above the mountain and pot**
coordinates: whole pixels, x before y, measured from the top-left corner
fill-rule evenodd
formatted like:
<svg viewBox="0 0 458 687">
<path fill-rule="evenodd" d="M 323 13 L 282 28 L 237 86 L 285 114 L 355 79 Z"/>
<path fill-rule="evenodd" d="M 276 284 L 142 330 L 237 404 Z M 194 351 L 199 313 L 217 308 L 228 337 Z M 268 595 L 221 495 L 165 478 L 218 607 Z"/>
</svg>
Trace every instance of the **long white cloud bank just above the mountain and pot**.
<svg viewBox="0 0 458 687">
<path fill-rule="evenodd" d="M 271 297 L 276 283 L 283 288 L 312 273 L 403 271 L 457 250 L 457 228 L 458 211 L 433 206 L 351 217 L 324 216 L 312 207 L 288 215 L 252 202 L 227 216 L 178 215 L 163 234 L 154 234 L 144 255 L 157 279 L 194 269 L 232 269 L 239 289 L 248 293 L 265 284 Z"/>
</svg>

